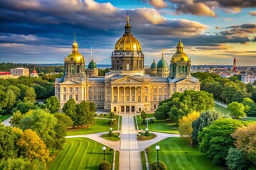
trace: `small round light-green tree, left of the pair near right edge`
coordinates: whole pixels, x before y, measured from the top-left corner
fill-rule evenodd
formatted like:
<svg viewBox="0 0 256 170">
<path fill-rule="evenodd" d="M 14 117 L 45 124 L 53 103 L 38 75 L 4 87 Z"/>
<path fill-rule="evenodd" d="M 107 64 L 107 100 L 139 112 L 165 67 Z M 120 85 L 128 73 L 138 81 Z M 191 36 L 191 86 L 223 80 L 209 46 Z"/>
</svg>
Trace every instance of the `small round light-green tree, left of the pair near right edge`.
<svg viewBox="0 0 256 170">
<path fill-rule="evenodd" d="M 229 103 L 228 110 L 230 110 L 230 115 L 233 116 L 233 118 L 239 119 L 246 116 L 245 106 L 243 106 L 242 103 L 238 103 L 237 101 Z"/>
</svg>

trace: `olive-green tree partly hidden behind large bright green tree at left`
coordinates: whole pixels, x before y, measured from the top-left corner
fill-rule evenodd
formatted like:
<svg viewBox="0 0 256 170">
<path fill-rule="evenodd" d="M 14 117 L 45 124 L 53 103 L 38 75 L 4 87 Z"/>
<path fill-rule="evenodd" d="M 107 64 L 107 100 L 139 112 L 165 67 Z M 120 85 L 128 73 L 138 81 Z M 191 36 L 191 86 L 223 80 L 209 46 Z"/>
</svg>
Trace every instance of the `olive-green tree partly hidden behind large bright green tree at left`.
<svg viewBox="0 0 256 170">
<path fill-rule="evenodd" d="M 73 121 L 64 113 L 55 113 L 54 117 L 58 119 L 55 125 L 55 148 L 62 149 L 65 143 L 65 136 L 67 135 L 67 128 L 73 125 Z"/>
</svg>

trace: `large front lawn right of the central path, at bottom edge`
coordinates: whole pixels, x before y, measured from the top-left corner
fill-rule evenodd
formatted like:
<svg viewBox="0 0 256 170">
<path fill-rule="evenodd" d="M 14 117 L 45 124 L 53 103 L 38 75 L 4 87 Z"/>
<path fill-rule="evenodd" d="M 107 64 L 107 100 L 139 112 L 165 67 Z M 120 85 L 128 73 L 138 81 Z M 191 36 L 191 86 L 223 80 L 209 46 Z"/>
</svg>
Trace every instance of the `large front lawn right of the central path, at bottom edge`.
<svg viewBox="0 0 256 170">
<path fill-rule="evenodd" d="M 190 147 L 188 142 L 181 137 L 169 137 L 146 149 L 150 150 L 150 153 L 147 154 L 149 164 L 156 161 L 156 145 L 160 147 L 159 161 L 164 162 L 168 169 L 223 169 L 222 166 L 212 164 L 210 159 L 207 159 L 205 155 L 201 154 L 196 147 Z"/>
</svg>

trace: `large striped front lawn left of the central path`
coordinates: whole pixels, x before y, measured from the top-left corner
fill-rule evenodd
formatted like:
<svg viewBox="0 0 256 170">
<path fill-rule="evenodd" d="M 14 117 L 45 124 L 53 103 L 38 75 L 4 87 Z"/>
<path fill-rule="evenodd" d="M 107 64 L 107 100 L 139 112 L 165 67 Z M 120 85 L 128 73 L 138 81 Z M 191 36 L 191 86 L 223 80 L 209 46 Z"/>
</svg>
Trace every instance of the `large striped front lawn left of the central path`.
<svg viewBox="0 0 256 170">
<path fill-rule="evenodd" d="M 50 166 L 51 170 L 98 169 L 103 161 L 103 145 L 87 138 L 67 139 L 64 149 Z M 105 160 L 113 164 L 113 151 L 107 147 Z"/>
</svg>

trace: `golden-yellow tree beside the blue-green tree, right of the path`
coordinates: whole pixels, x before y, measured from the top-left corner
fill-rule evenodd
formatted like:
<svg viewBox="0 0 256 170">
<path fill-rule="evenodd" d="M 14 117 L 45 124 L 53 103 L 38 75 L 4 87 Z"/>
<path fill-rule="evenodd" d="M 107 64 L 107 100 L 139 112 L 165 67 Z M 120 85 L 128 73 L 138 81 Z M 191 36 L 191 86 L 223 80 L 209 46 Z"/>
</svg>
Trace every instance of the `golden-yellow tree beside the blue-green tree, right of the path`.
<svg viewBox="0 0 256 170">
<path fill-rule="evenodd" d="M 192 145 L 191 134 L 193 132 L 192 122 L 199 118 L 200 113 L 193 111 L 188 115 L 184 115 L 178 122 L 178 132 L 181 134 L 181 137 L 187 137 L 188 142 Z"/>
</svg>

